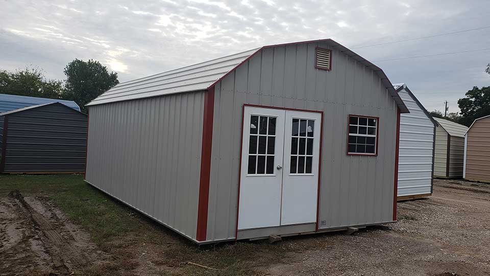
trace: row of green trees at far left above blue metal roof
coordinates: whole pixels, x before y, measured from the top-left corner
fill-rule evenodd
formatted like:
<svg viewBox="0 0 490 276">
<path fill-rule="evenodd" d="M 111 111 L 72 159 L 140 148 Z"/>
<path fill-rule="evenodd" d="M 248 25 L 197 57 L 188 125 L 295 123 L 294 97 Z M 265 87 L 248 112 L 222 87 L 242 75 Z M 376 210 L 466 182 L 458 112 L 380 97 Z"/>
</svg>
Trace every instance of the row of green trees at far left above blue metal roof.
<svg viewBox="0 0 490 276">
<path fill-rule="evenodd" d="M 28 66 L 15 72 L 0 71 L 0 94 L 62 99 L 63 81 L 48 80 L 41 68 Z"/>
</svg>

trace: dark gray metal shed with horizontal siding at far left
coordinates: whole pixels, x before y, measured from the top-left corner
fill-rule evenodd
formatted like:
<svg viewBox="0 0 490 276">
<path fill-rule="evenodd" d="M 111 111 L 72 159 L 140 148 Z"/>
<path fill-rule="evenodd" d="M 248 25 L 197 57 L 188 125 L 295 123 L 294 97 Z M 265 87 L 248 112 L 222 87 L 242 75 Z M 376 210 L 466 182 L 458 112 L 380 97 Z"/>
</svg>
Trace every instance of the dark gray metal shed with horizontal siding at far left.
<svg viewBox="0 0 490 276">
<path fill-rule="evenodd" d="M 87 115 L 62 103 L 0 113 L 2 173 L 85 171 Z"/>
</svg>

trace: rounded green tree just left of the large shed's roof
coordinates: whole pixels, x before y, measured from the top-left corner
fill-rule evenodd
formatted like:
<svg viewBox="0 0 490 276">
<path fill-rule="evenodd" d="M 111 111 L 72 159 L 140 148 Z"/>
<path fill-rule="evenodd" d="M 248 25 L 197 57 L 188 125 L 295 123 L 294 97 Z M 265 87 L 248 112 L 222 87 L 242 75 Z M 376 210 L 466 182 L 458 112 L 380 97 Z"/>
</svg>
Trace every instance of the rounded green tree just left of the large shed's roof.
<svg viewBox="0 0 490 276">
<path fill-rule="evenodd" d="M 66 65 L 67 97 L 75 101 L 82 112 L 87 112 L 85 105 L 118 84 L 117 73 L 107 71 L 99 61 L 75 59 Z"/>
</svg>

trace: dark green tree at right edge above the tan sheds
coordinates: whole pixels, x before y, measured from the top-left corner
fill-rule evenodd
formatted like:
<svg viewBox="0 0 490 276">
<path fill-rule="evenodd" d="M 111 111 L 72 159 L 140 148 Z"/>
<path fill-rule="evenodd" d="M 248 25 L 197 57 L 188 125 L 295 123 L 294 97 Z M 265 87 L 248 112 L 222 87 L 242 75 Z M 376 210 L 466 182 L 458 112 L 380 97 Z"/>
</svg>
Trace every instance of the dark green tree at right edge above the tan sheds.
<svg viewBox="0 0 490 276">
<path fill-rule="evenodd" d="M 466 98 L 458 100 L 463 116 L 463 125 L 470 126 L 475 119 L 490 115 L 490 86 L 474 86 L 465 94 Z"/>
</svg>

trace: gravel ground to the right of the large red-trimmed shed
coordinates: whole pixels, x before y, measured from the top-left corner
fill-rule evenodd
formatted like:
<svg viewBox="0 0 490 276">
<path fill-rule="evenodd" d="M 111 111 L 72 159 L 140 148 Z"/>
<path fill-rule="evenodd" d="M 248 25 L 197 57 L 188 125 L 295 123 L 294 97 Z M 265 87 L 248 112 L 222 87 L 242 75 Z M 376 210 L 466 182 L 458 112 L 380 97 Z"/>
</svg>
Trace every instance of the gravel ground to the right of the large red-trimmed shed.
<svg viewBox="0 0 490 276">
<path fill-rule="evenodd" d="M 398 223 L 326 236 L 271 275 L 490 275 L 490 188 L 435 180 L 431 197 L 398 203 Z"/>
</svg>

